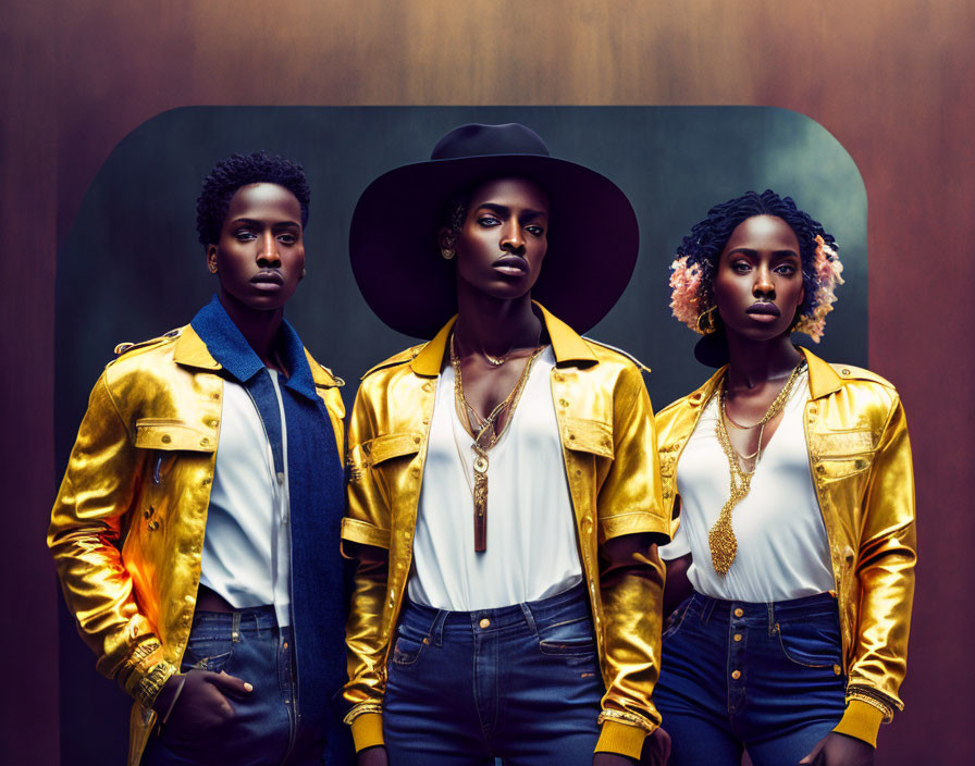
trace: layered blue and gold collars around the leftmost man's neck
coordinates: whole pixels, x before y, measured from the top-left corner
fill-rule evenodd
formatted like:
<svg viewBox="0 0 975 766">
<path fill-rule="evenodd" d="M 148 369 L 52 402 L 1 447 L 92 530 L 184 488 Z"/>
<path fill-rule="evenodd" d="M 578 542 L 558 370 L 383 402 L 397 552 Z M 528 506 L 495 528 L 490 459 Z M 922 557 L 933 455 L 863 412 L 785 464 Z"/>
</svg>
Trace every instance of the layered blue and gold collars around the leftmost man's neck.
<svg viewBox="0 0 975 766">
<path fill-rule="evenodd" d="M 316 375 L 310 366 L 305 347 L 295 329 L 282 321 L 279 338 L 281 359 L 291 371 L 286 387 L 307 398 L 316 397 L 314 384 L 335 385 L 335 381 L 324 370 Z M 234 324 L 214 295 L 201 308 L 189 326 L 180 336 L 174 350 L 174 359 L 180 365 L 199 367 L 206 370 L 226 370 L 238 383 L 246 383 L 264 369 L 260 357 Z"/>
</svg>

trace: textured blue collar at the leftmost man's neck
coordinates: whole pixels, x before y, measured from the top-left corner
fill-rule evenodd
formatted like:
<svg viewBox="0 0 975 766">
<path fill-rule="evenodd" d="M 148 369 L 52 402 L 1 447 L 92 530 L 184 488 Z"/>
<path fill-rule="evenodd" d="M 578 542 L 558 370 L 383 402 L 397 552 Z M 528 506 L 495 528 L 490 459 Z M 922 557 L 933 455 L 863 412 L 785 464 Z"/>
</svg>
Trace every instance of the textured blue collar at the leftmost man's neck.
<svg viewBox="0 0 975 766">
<path fill-rule="evenodd" d="M 215 295 L 197 312 L 189 324 L 206 344 L 213 359 L 238 383 L 247 383 L 264 369 L 264 363 L 247 343 Z M 309 399 L 316 399 L 314 379 L 308 367 L 305 347 L 287 320 L 281 322 L 277 343 L 281 360 L 291 373 L 286 387 Z"/>
</svg>

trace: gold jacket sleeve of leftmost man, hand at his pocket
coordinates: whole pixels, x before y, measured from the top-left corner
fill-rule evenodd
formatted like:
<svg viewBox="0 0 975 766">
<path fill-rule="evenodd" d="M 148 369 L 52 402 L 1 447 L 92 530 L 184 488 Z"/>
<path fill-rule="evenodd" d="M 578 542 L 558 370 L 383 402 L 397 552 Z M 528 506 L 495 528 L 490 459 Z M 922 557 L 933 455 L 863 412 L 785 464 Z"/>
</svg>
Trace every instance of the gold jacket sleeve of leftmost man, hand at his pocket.
<svg viewBox="0 0 975 766">
<path fill-rule="evenodd" d="M 162 662 L 159 639 L 139 611 L 120 553 L 144 460 L 104 373 L 69 458 L 48 545 L 78 631 L 98 655 L 98 671 L 150 707 L 175 668 Z"/>
</svg>

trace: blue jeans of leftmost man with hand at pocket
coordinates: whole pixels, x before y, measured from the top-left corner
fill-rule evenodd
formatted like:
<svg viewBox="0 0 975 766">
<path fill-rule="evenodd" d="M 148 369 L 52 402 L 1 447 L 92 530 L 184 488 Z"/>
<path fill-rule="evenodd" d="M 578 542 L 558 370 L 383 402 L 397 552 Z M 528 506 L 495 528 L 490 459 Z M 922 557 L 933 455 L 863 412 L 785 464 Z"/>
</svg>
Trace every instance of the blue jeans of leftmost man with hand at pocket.
<svg viewBox="0 0 975 766">
<path fill-rule="evenodd" d="M 295 699 L 293 630 L 279 629 L 273 607 L 197 611 L 181 671 L 192 668 L 225 670 L 249 681 L 254 691 L 247 700 L 231 701 L 234 717 L 214 732 L 215 749 L 203 751 L 197 743 L 176 740 L 163 727 L 149 740 L 141 766 L 322 763 L 321 724 L 304 720 Z"/>
</svg>

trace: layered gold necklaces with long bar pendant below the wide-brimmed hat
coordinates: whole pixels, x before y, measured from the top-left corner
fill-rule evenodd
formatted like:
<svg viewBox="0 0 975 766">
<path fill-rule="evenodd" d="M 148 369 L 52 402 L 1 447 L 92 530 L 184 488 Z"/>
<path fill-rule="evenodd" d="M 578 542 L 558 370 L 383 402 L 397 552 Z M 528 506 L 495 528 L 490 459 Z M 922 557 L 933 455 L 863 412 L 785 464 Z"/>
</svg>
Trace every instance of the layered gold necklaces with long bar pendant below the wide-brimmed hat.
<svg viewBox="0 0 975 766">
<path fill-rule="evenodd" d="M 474 551 L 477 553 L 484 553 L 488 549 L 488 467 L 490 465 L 488 450 L 497 444 L 504 432 L 511 424 L 515 409 L 521 399 L 521 392 L 524 391 L 524 384 L 528 382 L 531 368 L 543 350 L 545 350 L 545 346 L 540 346 L 531 353 L 515 387 L 491 410 L 486 418 L 482 418 L 464 396 L 460 359 L 454 348 L 454 336 L 451 335 L 451 367 L 454 368 L 454 403 L 457 407 L 460 422 L 471 438 L 473 438 L 471 449 L 474 453 L 474 470 L 471 494 L 474 499 Z M 507 359 L 508 354 L 505 355 L 501 362 L 496 362 L 491 358 L 488 361 L 499 367 Z M 502 419 L 502 416 L 504 416 L 504 427 L 498 431 L 496 424 Z"/>
</svg>

